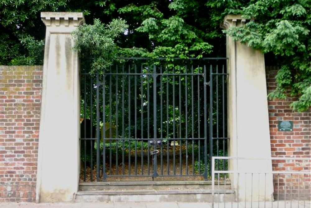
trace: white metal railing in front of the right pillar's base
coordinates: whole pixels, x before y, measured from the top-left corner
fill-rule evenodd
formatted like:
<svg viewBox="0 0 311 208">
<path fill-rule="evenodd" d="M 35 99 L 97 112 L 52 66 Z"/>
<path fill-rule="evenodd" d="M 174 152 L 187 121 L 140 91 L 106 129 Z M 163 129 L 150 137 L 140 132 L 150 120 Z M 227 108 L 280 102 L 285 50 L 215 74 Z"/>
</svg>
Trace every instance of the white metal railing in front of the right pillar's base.
<svg viewBox="0 0 311 208">
<path fill-rule="evenodd" d="M 215 170 L 216 163 L 220 160 L 227 161 L 227 170 Z M 262 164 L 267 161 L 269 164 L 271 160 L 274 166 L 278 164 L 276 170 L 258 171 L 258 161 Z M 278 162 L 273 162 L 276 160 Z M 310 207 L 310 160 L 298 157 L 212 157 L 212 207 Z M 243 171 L 243 164 L 251 164 L 254 168 L 248 167 L 247 171 Z M 216 183 L 218 181 L 216 187 L 215 179 Z M 230 180 L 230 197 L 226 191 L 221 194 L 221 180 Z M 221 188 L 226 190 L 227 187 L 225 185 Z M 226 196 L 229 202 L 226 201 Z"/>
</svg>

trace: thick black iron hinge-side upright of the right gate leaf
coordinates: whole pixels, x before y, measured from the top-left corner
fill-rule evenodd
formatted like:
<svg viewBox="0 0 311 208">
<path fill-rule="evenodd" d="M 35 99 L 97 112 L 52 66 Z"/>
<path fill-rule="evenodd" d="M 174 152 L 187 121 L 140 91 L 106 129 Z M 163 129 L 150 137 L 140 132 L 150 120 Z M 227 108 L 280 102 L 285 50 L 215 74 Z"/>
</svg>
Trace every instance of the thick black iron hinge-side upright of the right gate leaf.
<svg viewBox="0 0 311 208">
<path fill-rule="evenodd" d="M 204 178 L 207 180 L 207 101 L 206 101 L 206 66 L 204 65 Z M 212 160 L 212 157 L 210 157 Z M 210 161 L 211 161 L 210 160 Z M 211 165 L 211 164 L 210 164 Z M 211 166 L 210 166 L 211 170 Z"/>
</svg>

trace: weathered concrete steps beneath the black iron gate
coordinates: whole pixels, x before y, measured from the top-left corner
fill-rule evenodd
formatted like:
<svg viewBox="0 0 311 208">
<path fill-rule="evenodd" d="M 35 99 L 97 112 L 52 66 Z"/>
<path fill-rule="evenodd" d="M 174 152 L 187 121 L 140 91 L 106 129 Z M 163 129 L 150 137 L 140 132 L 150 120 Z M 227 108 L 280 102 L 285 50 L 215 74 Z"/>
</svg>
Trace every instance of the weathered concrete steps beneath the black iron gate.
<svg viewBox="0 0 311 208">
<path fill-rule="evenodd" d="M 101 184 L 99 184 L 101 183 Z M 107 183 L 111 184 L 108 185 Z M 76 202 L 211 202 L 209 181 L 128 181 L 81 183 Z M 83 190 L 86 189 L 86 190 Z M 231 201 L 230 185 L 218 183 L 214 202 Z M 218 194 L 219 193 L 219 194 Z"/>
</svg>

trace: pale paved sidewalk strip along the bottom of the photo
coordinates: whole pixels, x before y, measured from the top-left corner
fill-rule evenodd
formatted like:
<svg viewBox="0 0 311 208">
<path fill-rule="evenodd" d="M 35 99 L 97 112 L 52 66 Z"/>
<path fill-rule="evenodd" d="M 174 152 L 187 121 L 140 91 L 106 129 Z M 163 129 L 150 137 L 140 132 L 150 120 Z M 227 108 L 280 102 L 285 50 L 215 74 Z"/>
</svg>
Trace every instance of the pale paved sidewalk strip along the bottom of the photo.
<svg viewBox="0 0 311 208">
<path fill-rule="evenodd" d="M 215 203 L 215 208 L 310 208 L 310 201 Z M 0 208 L 212 208 L 211 203 L 187 202 L 88 202 L 88 203 L 0 203 Z"/>
</svg>

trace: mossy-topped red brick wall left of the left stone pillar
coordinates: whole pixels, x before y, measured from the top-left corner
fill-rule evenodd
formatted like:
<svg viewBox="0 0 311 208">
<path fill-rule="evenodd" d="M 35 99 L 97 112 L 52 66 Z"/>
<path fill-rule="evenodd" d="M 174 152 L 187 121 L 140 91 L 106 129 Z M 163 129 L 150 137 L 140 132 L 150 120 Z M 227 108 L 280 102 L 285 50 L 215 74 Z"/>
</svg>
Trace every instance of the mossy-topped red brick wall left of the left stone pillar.
<svg viewBox="0 0 311 208">
<path fill-rule="evenodd" d="M 35 201 L 42 66 L 0 66 L 0 202 Z"/>
</svg>

